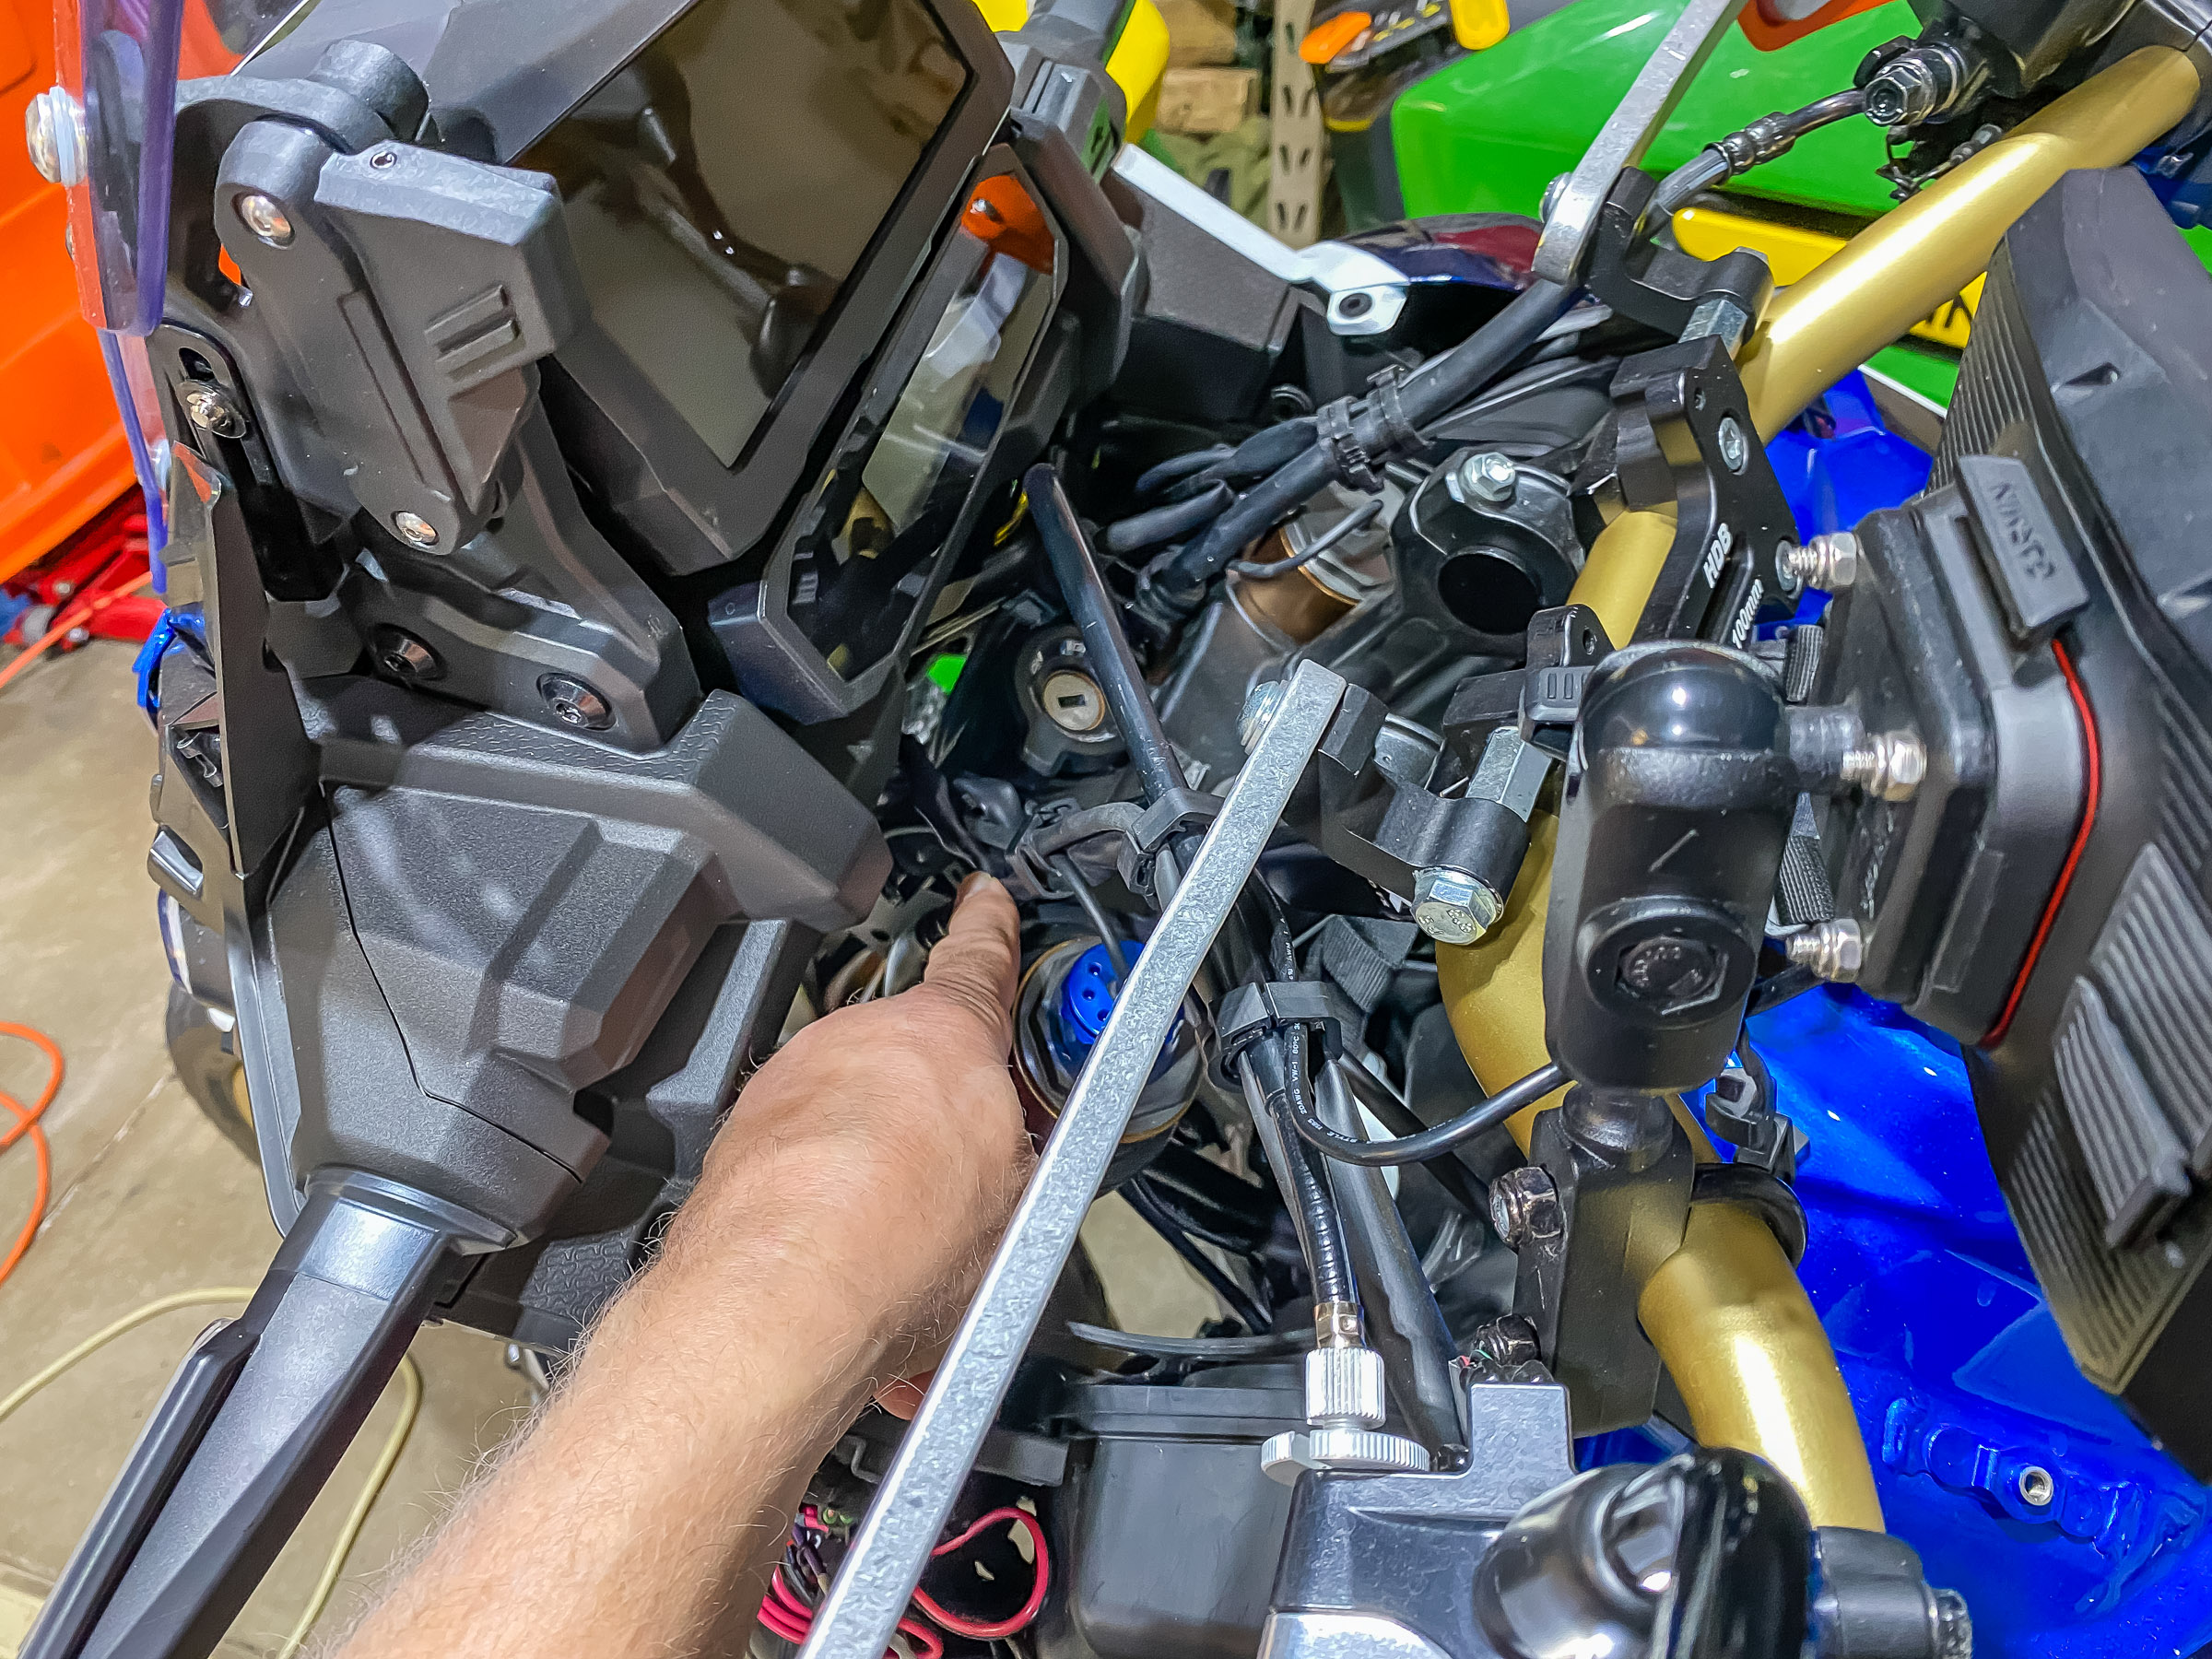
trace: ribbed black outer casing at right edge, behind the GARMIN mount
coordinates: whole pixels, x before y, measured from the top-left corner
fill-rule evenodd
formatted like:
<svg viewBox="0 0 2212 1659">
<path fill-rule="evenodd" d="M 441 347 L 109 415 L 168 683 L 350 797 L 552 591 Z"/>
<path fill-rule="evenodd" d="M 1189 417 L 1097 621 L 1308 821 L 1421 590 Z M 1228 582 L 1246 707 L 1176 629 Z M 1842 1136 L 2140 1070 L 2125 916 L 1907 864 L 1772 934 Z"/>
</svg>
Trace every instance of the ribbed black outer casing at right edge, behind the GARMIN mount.
<svg viewBox="0 0 2212 1659">
<path fill-rule="evenodd" d="M 1991 1161 L 2084 1371 L 2212 1475 L 2212 279 L 2132 168 L 2006 237 L 1936 482 L 2013 456 L 2079 531 L 2057 635 L 2090 714 L 2068 867 L 1966 1055 Z M 2037 759 L 2031 757 L 2028 765 Z M 2055 889 L 2055 891 L 2053 891 Z"/>
</svg>

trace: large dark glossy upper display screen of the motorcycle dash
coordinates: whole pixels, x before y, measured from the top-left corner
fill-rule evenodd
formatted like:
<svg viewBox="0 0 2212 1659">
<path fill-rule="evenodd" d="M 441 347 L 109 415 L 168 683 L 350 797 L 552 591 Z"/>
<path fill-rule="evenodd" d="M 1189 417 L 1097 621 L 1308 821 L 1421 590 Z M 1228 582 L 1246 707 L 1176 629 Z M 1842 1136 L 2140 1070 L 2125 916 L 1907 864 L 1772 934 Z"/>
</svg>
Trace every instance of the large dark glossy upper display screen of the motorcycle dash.
<svg viewBox="0 0 2212 1659">
<path fill-rule="evenodd" d="M 920 0 L 701 0 L 531 146 L 597 323 L 730 467 L 951 115 Z"/>
</svg>

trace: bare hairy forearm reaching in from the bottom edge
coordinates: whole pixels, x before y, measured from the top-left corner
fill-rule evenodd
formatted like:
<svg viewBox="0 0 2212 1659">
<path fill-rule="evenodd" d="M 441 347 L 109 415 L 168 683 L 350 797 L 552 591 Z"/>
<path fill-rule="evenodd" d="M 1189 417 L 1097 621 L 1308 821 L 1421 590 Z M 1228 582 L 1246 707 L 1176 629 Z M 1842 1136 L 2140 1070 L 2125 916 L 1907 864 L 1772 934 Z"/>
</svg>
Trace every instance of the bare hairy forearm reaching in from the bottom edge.
<svg viewBox="0 0 2212 1659">
<path fill-rule="evenodd" d="M 748 1172 L 750 1272 L 728 1241 L 712 1276 L 690 1272 L 706 1217 L 679 1217 L 349 1659 L 737 1650 L 790 1506 L 883 1369 L 854 1296 L 816 1270 L 832 1194 L 810 1192 L 807 1161 Z"/>
</svg>

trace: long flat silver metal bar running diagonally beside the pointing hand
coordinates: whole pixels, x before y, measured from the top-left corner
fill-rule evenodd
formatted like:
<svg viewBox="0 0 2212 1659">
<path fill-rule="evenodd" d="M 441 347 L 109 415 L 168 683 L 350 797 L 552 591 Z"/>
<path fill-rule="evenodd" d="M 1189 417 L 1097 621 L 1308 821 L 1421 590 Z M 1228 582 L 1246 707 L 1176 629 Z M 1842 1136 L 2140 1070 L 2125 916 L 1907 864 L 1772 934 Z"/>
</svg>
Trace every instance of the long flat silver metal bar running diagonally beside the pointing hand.
<svg viewBox="0 0 2212 1659">
<path fill-rule="evenodd" d="M 1060 1110 L 975 1301 L 814 1615 L 801 1659 L 883 1659 L 998 1416 L 1013 1367 L 1037 1329 L 1044 1301 L 1075 1248 L 1075 1230 L 1121 1144 L 1137 1091 L 1150 1077 L 1190 980 L 1321 745 L 1343 690 L 1343 679 L 1312 661 L 1292 675 Z"/>
</svg>

